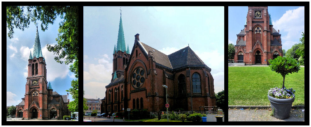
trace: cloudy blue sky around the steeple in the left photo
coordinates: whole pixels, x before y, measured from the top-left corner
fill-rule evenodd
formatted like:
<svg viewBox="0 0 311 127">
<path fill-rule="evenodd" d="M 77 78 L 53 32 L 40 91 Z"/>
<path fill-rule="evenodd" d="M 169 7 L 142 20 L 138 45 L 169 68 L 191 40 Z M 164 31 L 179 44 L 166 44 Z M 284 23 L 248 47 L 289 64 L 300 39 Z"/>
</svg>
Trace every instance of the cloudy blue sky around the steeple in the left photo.
<svg viewBox="0 0 311 127">
<path fill-rule="evenodd" d="M 55 55 L 46 49 L 47 44 L 56 44 L 55 39 L 58 34 L 58 23 L 61 21 L 57 18 L 53 25 L 49 24 L 49 29 L 43 32 L 38 27 L 39 39 L 44 55 L 47 69 L 47 81 L 51 82 L 53 91 L 60 95 L 67 95 L 65 90 L 71 88 L 71 81 L 74 79 L 74 74 L 70 72 L 69 65 L 59 64 L 54 60 Z M 30 51 L 33 52 L 33 45 L 36 37 L 36 26 L 30 22 L 29 28 L 24 31 L 14 29 L 13 38 L 9 39 L 7 36 L 7 106 L 17 105 L 24 98 L 26 93 L 26 77 L 27 65 Z M 7 29 L 8 33 L 8 29 Z M 6 33 L 6 34 L 7 34 Z M 69 94 L 69 101 L 72 97 Z"/>
</svg>

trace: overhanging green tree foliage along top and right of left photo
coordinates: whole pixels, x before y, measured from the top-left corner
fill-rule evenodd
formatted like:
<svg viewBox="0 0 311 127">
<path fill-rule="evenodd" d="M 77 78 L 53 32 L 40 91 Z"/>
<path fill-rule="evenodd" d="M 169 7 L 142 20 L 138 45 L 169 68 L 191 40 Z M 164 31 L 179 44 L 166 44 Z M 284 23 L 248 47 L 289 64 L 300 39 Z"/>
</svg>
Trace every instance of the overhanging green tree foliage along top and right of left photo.
<svg viewBox="0 0 311 127">
<path fill-rule="evenodd" d="M 26 12 L 24 12 L 24 9 Z M 56 57 L 54 60 L 70 65 L 69 70 L 75 74 L 77 79 L 71 81 L 69 90 L 66 90 L 72 95 L 73 101 L 69 102 L 68 109 L 72 112 L 78 111 L 78 67 L 79 67 L 79 17 L 78 6 L 7 6 L 7 28 L 8 37 L 13 38 L 16 27 L 24 30 L 29 27 L 30 20 L 38 25 L 41 22 L 41 29 L 45 31 L 48 29 L 49 24 L 53 24 L 57 16 L 63 19 L 59 23 L 58 37 L 56 38 L 57 44 L 52 46 L 47 44 L 49 52 L 54 52 Z"/>
</svg>

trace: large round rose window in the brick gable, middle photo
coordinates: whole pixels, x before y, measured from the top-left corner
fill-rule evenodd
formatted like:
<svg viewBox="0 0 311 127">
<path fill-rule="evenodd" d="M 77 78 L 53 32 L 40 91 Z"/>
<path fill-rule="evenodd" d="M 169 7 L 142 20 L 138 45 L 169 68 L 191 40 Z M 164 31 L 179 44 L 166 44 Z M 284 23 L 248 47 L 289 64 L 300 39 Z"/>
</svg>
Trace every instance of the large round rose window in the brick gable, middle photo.
<svg viewBox="0 0 311 127">
<path fill-rule="evenodd" d="M 145 70 L 138 67 L 132 73 L 132 85 L 134 88 L 139 88 L 145 82 Z"/>
</svg>

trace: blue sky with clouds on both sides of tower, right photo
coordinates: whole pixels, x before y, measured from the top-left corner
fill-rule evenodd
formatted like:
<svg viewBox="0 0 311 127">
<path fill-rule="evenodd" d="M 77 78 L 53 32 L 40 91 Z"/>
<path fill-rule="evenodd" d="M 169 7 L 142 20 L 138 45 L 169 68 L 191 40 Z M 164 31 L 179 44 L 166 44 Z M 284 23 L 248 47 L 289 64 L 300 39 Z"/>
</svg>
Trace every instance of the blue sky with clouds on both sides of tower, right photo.
<svg viewBox="0 0 311 127">
<path fill-rule="evenodd" d="M 282 49 L 286 51 L 295 43 L 301 43 L 304 32 L 304 7 L 268 7 L 272 25 L 279 29 Z M 228 7 L 228 44 L 236 44 L 237 36 L 244 29 L 248 7 Z"/>
</svg>

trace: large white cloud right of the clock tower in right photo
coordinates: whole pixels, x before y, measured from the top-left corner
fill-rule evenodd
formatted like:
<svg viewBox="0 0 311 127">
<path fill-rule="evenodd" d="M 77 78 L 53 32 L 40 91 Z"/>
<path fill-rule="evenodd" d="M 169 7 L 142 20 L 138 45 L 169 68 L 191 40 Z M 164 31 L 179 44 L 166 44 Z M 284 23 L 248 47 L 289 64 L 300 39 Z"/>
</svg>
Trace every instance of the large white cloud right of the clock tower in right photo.
<svg viewBox="0 0 311 127">
<path fill-rule="evenodd" d="M 286 43 L 299 41 L 301 32 L 304 31 L 304 7 L 286 11 L 280 19 L 273 21 L 272 24 L 276 31 L 279 29 L 282 34 L 282 44 L 285 44 L 285 47 L 284 45 L 282 47 L 291 48 L 294 43 L 289 44 L 290 47 L 287 47 Z"/>
</svg>

